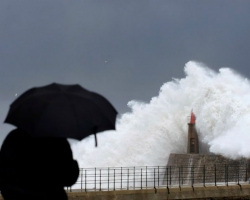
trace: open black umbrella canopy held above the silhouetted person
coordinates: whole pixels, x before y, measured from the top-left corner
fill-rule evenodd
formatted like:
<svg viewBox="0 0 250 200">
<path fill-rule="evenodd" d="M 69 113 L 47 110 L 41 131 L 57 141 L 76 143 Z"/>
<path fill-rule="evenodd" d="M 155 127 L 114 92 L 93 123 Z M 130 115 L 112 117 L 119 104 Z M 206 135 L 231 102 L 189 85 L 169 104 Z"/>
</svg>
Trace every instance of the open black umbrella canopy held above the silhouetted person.
<svg viewBox="0 0 250 200">
<path fill-rule="evenodd" d="M 5 123 L 34 136 L 81 140 L 115 129 L 117 111 L 103 96 L 80 85 L 52 83 L 31 88 L 10 106 Z"/>
</svg>

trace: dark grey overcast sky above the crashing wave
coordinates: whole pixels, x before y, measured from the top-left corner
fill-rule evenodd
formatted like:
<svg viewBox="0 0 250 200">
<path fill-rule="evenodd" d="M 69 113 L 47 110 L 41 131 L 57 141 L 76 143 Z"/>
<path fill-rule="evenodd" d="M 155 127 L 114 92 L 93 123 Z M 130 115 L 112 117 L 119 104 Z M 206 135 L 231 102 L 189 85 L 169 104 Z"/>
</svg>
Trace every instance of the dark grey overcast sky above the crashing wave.
<svg viewBox="0 0 250 200">
<path fill-rule="evenodd" d="M 249 36 L 249 0 L 1 0 L 0 120 L 16 93 L 51 82 L 79 83 L 124 113 L 189 60 L 250 77 Z"/>
</svg>

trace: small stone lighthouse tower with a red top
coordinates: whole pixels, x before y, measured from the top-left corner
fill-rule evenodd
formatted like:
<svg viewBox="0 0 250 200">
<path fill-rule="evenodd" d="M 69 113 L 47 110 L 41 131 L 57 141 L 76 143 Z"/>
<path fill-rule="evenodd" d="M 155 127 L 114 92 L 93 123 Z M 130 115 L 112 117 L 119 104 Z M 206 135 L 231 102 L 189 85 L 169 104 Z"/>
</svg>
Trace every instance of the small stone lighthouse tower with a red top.
<svg viewBox="0 0 250 200">
<path fill-rule="evenodd" d="M 191 112 L 190 121 L 188 123 L 188 145 L 187 153 L 199 153 L 199 140 L 195 129 L 195 115 Z"/>
</svg>

